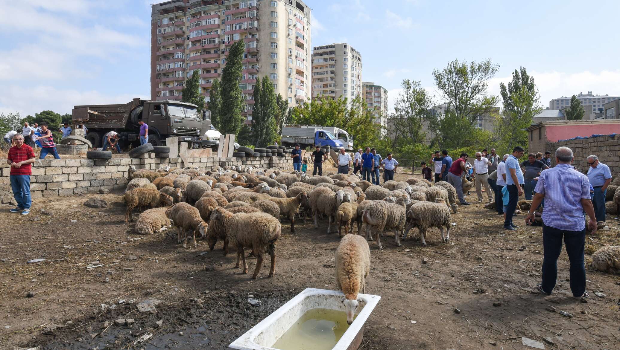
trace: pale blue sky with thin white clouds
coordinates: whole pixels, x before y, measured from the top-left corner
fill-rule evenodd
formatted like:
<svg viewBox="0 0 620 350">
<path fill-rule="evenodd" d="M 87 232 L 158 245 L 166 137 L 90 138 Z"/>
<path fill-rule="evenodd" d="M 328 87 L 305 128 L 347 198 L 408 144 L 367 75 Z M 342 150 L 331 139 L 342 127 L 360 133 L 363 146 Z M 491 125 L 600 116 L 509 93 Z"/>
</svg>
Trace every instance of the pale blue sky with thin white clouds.
<svg viewBox="0 0 620 350">
<path fill-rule="evenodd" d="M 0 0 L 0 113 L 148 99 L 153 2 L 162 0 Z M 383 85 L 390 108 L 402 79 L 438 96 L 433 69 L 457 58 L 500 65 L 491 95 L 526 67 L 543 107 L 579 92 L 620 95 L 617 0 L 305 2 L 312 46 L 360 51 L 363 81 Z"/>
</svg>

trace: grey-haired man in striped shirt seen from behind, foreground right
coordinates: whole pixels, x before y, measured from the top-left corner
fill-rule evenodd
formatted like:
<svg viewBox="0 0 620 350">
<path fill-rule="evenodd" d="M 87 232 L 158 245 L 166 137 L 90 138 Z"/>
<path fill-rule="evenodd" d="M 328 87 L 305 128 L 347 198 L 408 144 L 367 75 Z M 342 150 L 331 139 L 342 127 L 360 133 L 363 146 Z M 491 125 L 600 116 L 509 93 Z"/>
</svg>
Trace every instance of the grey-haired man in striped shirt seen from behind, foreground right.
<svg viewBox="0 0 620 350">
<path fill-rule="evenodd" d="M 575 299 L 587 298 L 585 291 L 585 222 L 583 212 L 590 217 L 588 226 L 596 232 L 594 207 L 590 201 L 590 180 L 570 165 L 573 151 L 569 147 L 556 150 L 557 165 L 541 173 L 536 184 L 536 195 L 525 223 L 534 220 L 534 210 L 545 199 L 542 211 L 542 283 L 538 291 L 551 294 L 556 287 L 557 258 L 562 252 L 562 238 L 570 261 L 570 291 Z"/>
</svg>

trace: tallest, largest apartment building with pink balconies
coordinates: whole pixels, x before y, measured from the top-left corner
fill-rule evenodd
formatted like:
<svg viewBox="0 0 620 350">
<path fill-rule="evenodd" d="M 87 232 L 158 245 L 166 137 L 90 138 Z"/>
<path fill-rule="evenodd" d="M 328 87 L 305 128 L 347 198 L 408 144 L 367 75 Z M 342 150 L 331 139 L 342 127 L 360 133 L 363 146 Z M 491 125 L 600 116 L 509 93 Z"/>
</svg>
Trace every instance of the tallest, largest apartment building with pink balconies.
<svg viewBox="0 0 620 350">
<path fill-rule="evenodd" d="M 294 107 L 311 96 L 311 9 L 297 0 L 172 0 L 152 6 L 151 98 L 180 100 L 185 79 L 200 72 L 209 100 L 234 42 L 246 47 L 243 115 L 252 120 L 257 79 L 270 77 Z"/>
</svg>

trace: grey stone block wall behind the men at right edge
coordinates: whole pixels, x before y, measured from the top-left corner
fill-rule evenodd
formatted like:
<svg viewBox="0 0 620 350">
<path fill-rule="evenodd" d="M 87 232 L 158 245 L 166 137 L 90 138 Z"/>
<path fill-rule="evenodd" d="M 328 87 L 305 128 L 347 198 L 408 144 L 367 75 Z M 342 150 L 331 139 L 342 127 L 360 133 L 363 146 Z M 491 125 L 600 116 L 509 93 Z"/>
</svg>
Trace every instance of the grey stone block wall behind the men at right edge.
<svg viewBox="0 0 620 350">
<path fill-rule="evenodd" d="M 573 150 L 575 156 L 573 165 L 582 173 L 588 172 L 587 157 L 591 154 L 596 155 L 601 163 L 609 167 L 612 176 L 615 177 L 620 173 L 620 135 L 550 142 L 547 144 L 547 149 L 551 151 L 553 165 L 556 162 L 556 149 L 562 146 Z"/>
</svg>

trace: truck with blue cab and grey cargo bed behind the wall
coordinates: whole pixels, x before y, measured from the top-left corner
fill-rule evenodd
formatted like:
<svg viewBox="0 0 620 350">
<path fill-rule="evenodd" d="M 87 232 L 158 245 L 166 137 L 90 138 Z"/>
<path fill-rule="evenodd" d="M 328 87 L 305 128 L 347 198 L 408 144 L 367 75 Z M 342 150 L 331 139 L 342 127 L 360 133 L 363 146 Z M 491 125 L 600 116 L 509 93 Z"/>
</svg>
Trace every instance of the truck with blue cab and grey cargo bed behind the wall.
<svg viewBox="0 0 620 350">
<path fill-rule="evenodd" d="M 285 125 L 282 128 L 281 142 L 285 146 L 298 143 L 303 147 L 331 146 L 353 150 L 353 137 L 347 131 L 334 126 Z"/>
</svg>

